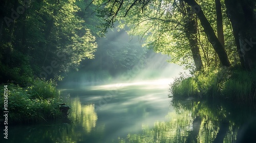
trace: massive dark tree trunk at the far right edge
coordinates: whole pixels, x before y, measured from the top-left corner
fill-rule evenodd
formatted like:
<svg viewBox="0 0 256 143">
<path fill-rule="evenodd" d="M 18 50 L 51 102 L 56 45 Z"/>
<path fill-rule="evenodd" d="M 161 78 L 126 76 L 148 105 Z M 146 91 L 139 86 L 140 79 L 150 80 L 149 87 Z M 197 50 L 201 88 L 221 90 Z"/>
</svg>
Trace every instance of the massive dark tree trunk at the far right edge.
<svg viewBox="0 0 256 143">
<path fill-rule="evenodd" d="M 256 67 L 255 3 L 254 0 L 225 0 L 241 64 L 249 70 Z"/>
</svg>

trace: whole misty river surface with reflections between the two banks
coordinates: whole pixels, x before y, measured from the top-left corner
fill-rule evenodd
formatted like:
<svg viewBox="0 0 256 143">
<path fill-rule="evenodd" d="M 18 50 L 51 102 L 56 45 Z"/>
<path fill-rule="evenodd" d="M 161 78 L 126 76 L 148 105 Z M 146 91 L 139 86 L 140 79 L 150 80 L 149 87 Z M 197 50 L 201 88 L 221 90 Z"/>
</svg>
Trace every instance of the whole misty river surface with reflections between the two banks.
<svg viewBox="0 0 256 143">
<path fill-rule="evenodd" d="M 172 79 L 61 88 L 69 120 L 10 126 L 9 142 L 235 142 L 255 137 L 255 108 L 168 98 Z M 250 139 L 250 138 L 249 138 Z"/>
</svg>

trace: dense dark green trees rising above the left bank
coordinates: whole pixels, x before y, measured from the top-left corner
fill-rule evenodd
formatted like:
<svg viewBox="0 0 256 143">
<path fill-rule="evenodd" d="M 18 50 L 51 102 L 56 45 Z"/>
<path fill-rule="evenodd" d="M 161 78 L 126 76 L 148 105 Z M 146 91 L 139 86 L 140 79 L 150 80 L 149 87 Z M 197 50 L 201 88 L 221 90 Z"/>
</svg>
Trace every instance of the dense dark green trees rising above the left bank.
<svg viewBox="0 0 256 143">
<path fill-rule="evenodd" d="M 59 80 L 63 73 L 77 69 L 81 60 L 93 58 L 95 36 L 100 34 L 95 26 L 100 20 L 88 14 L 93 6 L 84 11 L 88 2 L 1 3 L 5 11 L 0 33 L 2 83 L 14 81 L 26 86 L 34 77 Z"/>
</svg>

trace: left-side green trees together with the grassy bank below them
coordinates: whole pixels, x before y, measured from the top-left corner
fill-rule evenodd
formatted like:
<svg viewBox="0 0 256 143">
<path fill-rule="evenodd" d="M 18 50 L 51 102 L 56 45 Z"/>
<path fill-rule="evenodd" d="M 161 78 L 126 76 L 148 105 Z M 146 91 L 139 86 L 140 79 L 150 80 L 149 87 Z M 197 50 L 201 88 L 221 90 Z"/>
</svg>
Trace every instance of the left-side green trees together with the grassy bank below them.
<svg viewBox="0 0 256 143">
<path fill-rule="evenodd" d="M 56 118 L 59 91 L 51 79 L 62 80 L 94 57 L 102 35 L 95 6 L 82 0 L 0 3 L 0 84 L 10 87 L 10 122 Z"/>
</svg>

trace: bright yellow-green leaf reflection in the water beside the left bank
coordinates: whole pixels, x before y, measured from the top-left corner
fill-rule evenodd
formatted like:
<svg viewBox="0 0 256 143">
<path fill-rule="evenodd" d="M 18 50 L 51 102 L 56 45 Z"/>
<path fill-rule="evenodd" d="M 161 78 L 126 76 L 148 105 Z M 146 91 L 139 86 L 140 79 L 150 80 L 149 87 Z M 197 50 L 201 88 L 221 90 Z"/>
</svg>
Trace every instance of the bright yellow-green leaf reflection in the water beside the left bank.
<svg viewBox="0 0 256 143">
<path fill-rule="evenodd" d="M 96 122 L 98 116 L 95 112 L 94 104 L 82 105 L 80 99 L 74 98 L 71 103 L 70 120 L 72 121 L 67 127 L 69 132 L 59 130 L 59 139 L 66 142 L 79 142 L 79 141 L 89 141 L 92 138 L 92 130 L 97 128 L 98 131 L 103 131 L 104 126 L 98 125 L 96 127 Z M 98 135 L 100 139 L 100 133 Z"/>
</svg>

